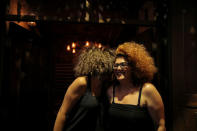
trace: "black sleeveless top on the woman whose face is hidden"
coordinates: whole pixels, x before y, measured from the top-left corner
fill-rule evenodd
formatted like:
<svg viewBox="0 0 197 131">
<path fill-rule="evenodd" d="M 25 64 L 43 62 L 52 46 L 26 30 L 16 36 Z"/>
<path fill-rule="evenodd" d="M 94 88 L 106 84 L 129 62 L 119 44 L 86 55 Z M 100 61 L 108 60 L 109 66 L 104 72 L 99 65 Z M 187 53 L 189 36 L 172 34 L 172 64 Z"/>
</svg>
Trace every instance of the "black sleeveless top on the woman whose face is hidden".
<svg viewBox="0 0 197 131">
<path fill-rule="evenodd" d="M 102 131 L 100 126 L 100 104 L 92 96 L 90 78 L 87 79 L 85 94 L 72 108 L 66 117 L 64 131 Z"/>
</svg>

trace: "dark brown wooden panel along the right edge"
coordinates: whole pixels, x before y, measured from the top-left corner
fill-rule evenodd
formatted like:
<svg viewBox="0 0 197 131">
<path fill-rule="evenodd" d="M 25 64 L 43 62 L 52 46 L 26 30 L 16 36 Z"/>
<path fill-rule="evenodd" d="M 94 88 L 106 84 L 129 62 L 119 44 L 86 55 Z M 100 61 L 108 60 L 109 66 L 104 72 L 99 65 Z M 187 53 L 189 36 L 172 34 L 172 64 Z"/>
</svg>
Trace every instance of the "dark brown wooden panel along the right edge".
<svg viewBox="0 0 197 131">
<path fill-rule="evenodd" d="M 192 0 L 171 2 L 173 131 L 197 130 L 197 14 Z"/>
</svg>

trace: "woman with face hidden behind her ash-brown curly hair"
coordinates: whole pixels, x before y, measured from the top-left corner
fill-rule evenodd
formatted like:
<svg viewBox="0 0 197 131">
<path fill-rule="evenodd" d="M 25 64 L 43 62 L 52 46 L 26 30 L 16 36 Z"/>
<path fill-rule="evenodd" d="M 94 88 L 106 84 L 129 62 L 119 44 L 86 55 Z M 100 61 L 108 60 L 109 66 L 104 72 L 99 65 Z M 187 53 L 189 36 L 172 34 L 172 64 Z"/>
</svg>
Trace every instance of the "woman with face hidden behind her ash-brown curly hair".
<svg viewBox="0 0 197 131">
<path fill-rule="evenodd" d="M 97 47 L 84 48 L 74 71 L 76 79 L 68 87 L 57 114 L 54 131 L 100 131 L 103 82 L 112 73 L 115 52 Z"/>
</svg>

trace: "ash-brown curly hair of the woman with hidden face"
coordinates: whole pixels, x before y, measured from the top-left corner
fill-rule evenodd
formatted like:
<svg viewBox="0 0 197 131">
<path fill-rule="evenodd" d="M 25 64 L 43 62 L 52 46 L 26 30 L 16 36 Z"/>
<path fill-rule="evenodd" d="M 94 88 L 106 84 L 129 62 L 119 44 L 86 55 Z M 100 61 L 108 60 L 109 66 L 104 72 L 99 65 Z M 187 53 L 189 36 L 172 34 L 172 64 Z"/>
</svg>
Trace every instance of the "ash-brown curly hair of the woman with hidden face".
<svg viewBox="0 0 197 131">
<path fill-rule="evenodd" d="M 75 76 L 98 76 L 112 73 L 115 51 L 95 46 L 84 47 L 76 58 Z"/>
</svg>

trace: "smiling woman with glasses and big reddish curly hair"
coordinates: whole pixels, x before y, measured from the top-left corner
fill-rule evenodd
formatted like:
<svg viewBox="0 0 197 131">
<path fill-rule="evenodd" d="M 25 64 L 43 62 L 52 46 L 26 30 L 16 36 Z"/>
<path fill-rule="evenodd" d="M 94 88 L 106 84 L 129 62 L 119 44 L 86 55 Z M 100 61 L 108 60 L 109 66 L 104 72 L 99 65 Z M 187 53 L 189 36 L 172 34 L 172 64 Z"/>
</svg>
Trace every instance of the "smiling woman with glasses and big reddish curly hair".
<svg viewBox="0 0 197 131">
<path fill-rule="evenodd" d="M 108 131 L 165 131 L 162 98 L 150 83 L 157 68 L 145 47 L 125 42 L 116 49 L 116 82 L 107 90 Z"/>
</svg>

